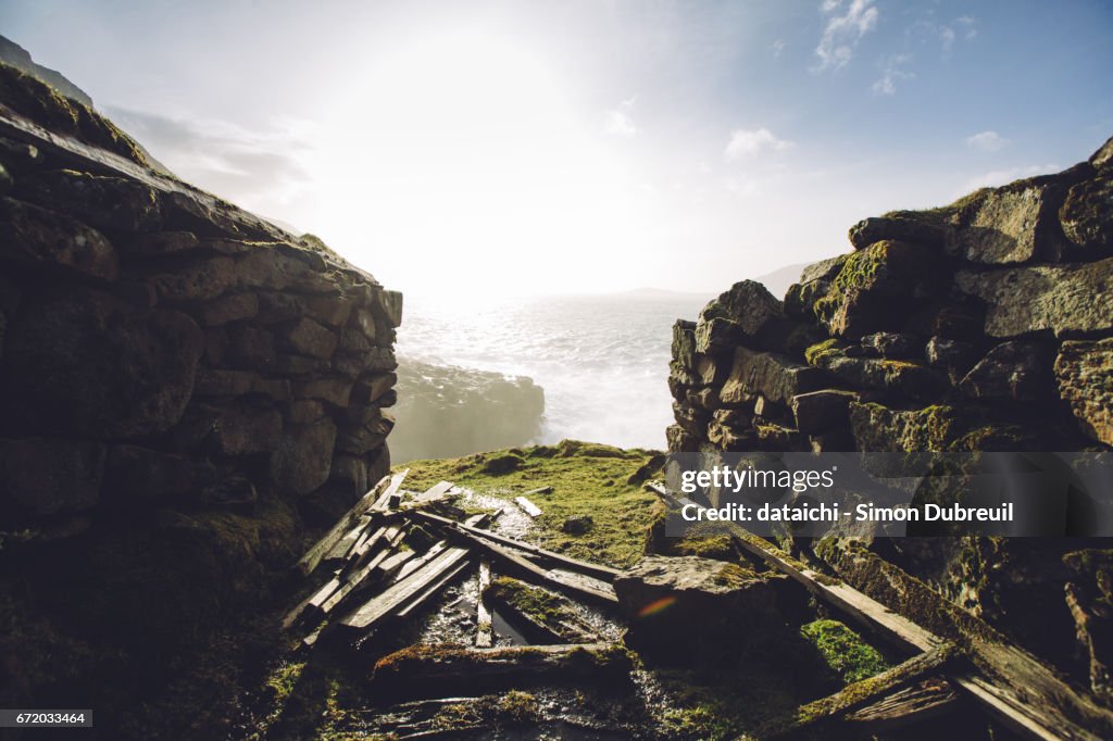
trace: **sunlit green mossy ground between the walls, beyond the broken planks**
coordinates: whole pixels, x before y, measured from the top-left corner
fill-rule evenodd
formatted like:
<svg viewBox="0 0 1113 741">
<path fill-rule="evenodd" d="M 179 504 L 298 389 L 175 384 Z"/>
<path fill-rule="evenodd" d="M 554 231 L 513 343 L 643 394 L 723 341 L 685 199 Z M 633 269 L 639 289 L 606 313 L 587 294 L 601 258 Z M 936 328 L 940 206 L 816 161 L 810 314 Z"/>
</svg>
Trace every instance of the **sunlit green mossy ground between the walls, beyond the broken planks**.
<svg viewBox="0 0 1113 741">
<path fill-rule="evenodd" d="M 552 486 L 550 494 L 531 496 L 543 514 L 533 521 L 526 540 L 575 559 L 619 567 L 633 564 L 642 555 L 657 497 L 628 482 L 656 453 L 574 441 L 558 446 L 567 454 L 552 455 L 553 449 L 525 448 L 518 456 L 521 463 L 504 474 L 492 474 L 484 468 L 487 460 L 510 455 L 508 452 L 489 453 L 484 457 L 412 461 L 404 466 L 410 468 L 406 487 L 423 490 L 440 481 L 451 481 L 477 494 L 512 498 L 523 491 Z M 597 455 L 600 451 L 608 451 L 608 455 L 600 457 Z M 614 455 L 615 451 L 620 455 Z M 572 535 L 561 530 L 564 520 L 581 515 L 590 515 L 594 522 L 588 534 Z"/>
</svg>

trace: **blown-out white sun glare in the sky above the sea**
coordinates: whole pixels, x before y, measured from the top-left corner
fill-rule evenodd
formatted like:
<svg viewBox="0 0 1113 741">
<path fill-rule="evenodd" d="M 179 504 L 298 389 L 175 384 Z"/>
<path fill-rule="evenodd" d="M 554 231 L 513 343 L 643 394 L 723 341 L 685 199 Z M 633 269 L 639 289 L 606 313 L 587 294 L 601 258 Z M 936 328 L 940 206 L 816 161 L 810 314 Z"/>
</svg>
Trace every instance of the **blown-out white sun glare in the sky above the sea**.
<svg viewBox="0 0 1113 741">
<path fill-rule="evenodd" d="M 367 59 L 315 162 L 326 240 L 403 290 L 592 290 L 584 260 L 620 267 L 605 245 L 631 238 L 631 189 L 544 59 L 482 31 Z"/>
</svg>

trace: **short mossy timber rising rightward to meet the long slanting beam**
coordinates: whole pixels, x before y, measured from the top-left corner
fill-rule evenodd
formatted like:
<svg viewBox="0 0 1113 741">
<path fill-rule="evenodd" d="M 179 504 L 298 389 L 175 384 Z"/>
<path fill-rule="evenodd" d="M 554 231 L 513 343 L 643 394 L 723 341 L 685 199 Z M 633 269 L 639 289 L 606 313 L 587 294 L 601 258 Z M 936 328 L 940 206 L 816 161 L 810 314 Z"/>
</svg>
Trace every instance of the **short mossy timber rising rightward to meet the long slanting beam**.
<svg viewBox="0 0 1113 741">
<path fill-rule="evenodd" d="M 770 727 L 759 735 L 761 738 L 791 737 L 817 723 L 838 720 L 855 710 L 873 704 L 894 690 L 906 686 L 926 674 L 939 672 L 955 660 L 956 654 L 955 646 L 948 643 L 913 656 L 877 676 L 848 684 L 833 695 L 801 705 L 787 724 Z"/>
</svg>

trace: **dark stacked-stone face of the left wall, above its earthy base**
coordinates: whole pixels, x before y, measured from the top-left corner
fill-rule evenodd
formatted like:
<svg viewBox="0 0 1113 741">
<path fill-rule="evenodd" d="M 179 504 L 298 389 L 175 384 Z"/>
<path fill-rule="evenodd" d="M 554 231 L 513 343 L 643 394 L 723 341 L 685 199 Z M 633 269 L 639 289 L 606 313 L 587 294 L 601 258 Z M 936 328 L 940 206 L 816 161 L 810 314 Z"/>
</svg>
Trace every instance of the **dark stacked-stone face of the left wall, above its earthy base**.
<svg viewBox="0 0 1113 741">
<path fill-rule="evenodd" d="M 387 471 L 400 294 L 32 124 L 0 113 L 0 530 L 264 497 L 324 518 Z"/>
</svg>

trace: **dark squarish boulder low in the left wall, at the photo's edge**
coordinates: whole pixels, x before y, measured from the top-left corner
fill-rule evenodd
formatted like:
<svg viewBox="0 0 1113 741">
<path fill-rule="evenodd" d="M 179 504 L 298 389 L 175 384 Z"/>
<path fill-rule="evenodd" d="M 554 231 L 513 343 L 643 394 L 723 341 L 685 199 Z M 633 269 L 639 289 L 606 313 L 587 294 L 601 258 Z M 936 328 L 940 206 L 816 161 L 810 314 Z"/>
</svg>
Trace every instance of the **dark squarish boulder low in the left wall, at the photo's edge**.
<svg viewBox="0 0 1113 741">
<path fill-rule="evenodd" d="M 100 497 L 105 446 L 33 437 L 0 441 L 0 510 L 46 517 L 92 508 Z M 17 517 L 19 515 L 16 515 Z"/>
</svg>

